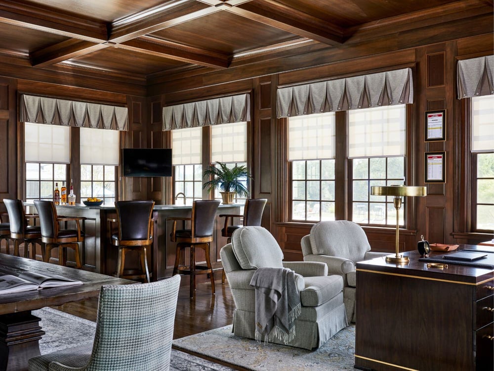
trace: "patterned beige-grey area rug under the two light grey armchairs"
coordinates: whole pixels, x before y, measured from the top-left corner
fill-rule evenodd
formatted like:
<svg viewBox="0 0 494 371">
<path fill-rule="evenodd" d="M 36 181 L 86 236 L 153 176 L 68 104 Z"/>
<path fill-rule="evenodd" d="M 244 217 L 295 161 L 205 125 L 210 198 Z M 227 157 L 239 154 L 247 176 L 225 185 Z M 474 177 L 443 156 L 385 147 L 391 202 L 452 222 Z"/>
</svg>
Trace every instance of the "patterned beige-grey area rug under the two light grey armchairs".
<svg viewBox="0 0 494 371">
<path fill-rule="evenodd" d="M 173 348 L 245 370 L 354 370 L 355 325 L 342 329 L 316 351 L 237 337 L 231 325 L 175 339 Z"/>
</svg>

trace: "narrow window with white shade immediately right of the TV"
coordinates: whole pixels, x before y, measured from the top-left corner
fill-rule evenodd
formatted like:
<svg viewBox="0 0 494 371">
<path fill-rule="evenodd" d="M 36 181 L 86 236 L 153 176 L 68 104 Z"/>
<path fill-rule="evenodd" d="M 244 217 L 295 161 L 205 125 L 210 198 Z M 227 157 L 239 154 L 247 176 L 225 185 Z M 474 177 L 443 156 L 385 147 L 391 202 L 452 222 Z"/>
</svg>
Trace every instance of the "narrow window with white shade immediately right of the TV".
<svg viewBox="0 0 494 371">
<path fill-rule="evenodd" d="M 203 199 L 202 128 L 173 130 L 171 137 L 175 203 L 183 194 L 184 204 L 192 205 Z"/>
</svg>

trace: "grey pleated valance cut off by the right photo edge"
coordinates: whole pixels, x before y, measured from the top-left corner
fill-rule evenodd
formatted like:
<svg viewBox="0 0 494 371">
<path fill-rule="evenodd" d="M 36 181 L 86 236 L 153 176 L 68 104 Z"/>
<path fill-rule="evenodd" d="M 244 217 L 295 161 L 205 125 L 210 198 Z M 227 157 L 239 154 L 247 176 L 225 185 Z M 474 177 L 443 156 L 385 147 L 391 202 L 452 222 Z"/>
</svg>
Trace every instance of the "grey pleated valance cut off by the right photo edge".
<svg viewBox="0 0 494 371">
<path fill-rule="evenodd" d="M 458 61 L 458 99 L 494 94 L 494 55 Z"/>
</svg>

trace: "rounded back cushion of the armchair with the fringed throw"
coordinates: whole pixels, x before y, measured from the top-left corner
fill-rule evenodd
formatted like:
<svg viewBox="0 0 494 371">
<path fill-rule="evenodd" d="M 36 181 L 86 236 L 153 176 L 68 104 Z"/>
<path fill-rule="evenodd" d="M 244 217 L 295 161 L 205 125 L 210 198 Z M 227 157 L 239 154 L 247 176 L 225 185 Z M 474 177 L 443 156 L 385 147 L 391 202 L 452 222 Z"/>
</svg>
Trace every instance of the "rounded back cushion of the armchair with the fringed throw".
<svg viewBox="0 0 494 371">
<path fill-rule="evenodd" d="M 243 227 L 232 235 L 233 253 L 242 269 L 283 268 L 283 252 L 262 227 Z"/>
</svg>

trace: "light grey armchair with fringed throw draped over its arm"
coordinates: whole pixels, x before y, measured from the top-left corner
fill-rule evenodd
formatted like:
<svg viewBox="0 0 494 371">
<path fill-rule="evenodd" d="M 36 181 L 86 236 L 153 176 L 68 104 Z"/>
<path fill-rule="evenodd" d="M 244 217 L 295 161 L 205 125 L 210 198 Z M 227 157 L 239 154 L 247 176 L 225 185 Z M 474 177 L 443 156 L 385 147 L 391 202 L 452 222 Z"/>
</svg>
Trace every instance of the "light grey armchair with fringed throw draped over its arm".
<svg viewBox="0 0 494 371">
<path fill-rule="evenodd" d="M 250 280 L 258 268 L 289 268 L 295 272 L 300 293 L 301 314 L 295 320 L 295 337 L 287 345 L 317 349 L 348 325 L 343 304 L 343 278 L 328 276 L 320 262 L 283 262 L 275 238 L 262 227 L 241 227 L 233 232 L 232 243 L 220 251 L 236 309 L 233 333 L 254 339 L 255 290 Z M 283 344 L 278 339 L 272 342 Z"/>
</svg>

